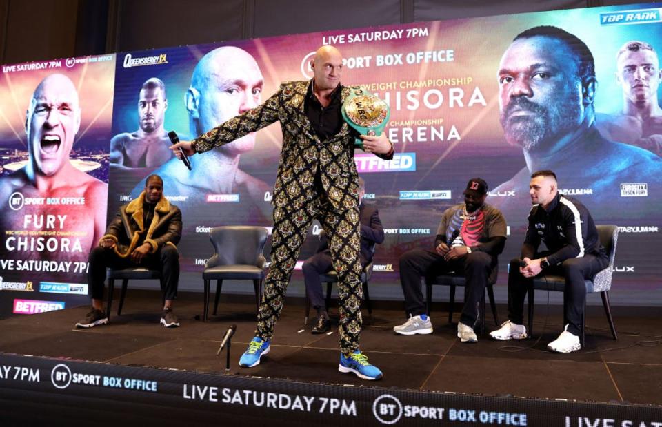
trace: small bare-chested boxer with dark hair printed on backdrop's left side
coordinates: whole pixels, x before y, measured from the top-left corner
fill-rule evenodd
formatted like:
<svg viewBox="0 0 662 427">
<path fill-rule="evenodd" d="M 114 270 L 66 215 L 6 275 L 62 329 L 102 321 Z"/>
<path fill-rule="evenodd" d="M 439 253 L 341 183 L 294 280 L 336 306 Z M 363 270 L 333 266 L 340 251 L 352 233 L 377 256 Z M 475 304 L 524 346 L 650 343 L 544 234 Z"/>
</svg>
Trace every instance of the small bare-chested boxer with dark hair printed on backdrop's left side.
<svg viewBox="0 0 662 427">
<path fill-rule="evenodd" d="M 172 152 L 168 132 L 163 127 L 168 99 L 165 84 L 152 77 L 143 83 L 138 94 L 138 130 L 115 135 L 110 140 L 110 166 L 137 180 L 170 160 Z"/>
</svg>

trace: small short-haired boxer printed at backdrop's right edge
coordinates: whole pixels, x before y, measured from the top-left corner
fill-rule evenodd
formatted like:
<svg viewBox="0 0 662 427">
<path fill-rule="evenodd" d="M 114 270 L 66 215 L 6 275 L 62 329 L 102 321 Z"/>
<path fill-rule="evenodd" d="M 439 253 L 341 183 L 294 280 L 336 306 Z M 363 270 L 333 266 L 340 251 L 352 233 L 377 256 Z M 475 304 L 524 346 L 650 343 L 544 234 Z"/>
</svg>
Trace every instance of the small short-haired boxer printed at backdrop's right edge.
<svg viewBox="0 0 662 427">
<path fill-rule="evenodd" d="M 657 90 L 662 70 L 657 52 L 643 41 L 628 41 L 616 54 L 616 82 L 623 90 L 621 114 L 598 114 L 600 133 L 662 155 L 662 108 Z"/>
</svg>

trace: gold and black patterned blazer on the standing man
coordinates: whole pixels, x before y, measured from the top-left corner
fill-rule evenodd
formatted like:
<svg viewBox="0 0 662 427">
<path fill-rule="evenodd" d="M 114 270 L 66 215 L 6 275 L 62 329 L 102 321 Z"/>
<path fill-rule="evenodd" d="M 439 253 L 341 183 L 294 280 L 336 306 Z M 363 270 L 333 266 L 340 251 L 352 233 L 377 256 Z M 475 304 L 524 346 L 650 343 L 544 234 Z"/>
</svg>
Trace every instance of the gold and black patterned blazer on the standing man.
<svg viewBox="0 0 662 427">
<path fill-rule="evenodd" d="M 322 186 L 333 207 L 358 209 L 359 184 L 354 164 L 356 134 L 343 123 L 338 134 L 319 140 L 304 111 L 310 84 L 312 80 L 282 83 L 278 92 L 265 103 L 194 139 L 194 151 L 206 152 L 280 121 L 283 148 L 274 185 L 274 206 L 296 210 L 314 198 L 313 181 L 319 169 Z M 341 90 L 341 102 L 344 102 L 350 87 L 341 87 Z"/>
</svg>

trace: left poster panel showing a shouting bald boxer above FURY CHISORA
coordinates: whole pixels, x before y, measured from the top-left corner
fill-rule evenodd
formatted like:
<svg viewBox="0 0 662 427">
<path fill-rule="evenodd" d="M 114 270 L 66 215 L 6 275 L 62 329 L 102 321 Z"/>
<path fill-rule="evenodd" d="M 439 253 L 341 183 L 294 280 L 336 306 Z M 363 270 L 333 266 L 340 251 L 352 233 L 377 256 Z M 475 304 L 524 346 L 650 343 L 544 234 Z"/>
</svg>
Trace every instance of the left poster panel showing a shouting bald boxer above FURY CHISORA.
<svg viewBox="0 0 662 427">
<path fill-rule="evenodd" d="M 0 313 L 88 303 L 106 229 L 114 54 L 2 65 Z"/>
</svg>

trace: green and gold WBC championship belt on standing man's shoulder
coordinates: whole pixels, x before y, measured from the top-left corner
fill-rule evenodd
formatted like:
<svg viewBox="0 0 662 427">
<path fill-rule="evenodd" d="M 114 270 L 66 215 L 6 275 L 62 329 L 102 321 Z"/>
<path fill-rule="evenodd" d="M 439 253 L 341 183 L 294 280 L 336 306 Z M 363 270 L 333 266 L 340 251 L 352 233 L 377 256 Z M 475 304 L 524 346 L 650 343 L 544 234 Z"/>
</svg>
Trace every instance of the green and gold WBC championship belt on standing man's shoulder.
<svg viewBox="0 0 662 427">
<path fill-rule="evenodd" d="M 359 134 L 379 136 L 391 115 L 388 104 L 367 90 L 350 87 L 341 109 L 343 119 Z M 363 140 L 356 138 L 354 146 L 363 149 Z"/>
</svg>

